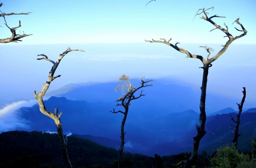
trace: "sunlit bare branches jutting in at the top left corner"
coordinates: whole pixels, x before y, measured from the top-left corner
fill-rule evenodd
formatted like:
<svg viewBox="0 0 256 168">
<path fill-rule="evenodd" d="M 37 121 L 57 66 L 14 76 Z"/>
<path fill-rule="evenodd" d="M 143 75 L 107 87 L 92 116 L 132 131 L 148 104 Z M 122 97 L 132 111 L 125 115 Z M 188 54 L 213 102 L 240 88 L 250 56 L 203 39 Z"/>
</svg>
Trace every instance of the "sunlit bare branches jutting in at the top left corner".
<svg viewBox="0 0 256 168">
<path fill-rule="evenodd" d="M 1 7 L 2 5 L 3 5 L 3 3 L 0 3 L 0 7 Z M 12 36 L 11 36 L 11 37 L 7 37 L 7 38 L 5 38 L 5 39 L 0 39 L 0 43 L 19 42 L 19 41 L 22 41 L 22 40 L 20 40 L 21 38 L 32 35 L 32 34 L 25 34 L 24 31 L 23 31 L 23 34 L 21 34 L 21 33 L 20 33 L 20 34 L 17 34 L 17 33 L 16 33 L 16 29 L 21 27 L 21 25 L 20 25 L 20 20 L 19 20 L 19 24 L 18 24 L 16 27 L 11 28 L 11 27 L 9 27 L 9 25 L 7 25 L 6 16 L 10 16 L 10 15 L 21 15 L 21 14 L 27 15 L 27 14 L 30 14 L 30 12 L 27 12 L 27 13 L 18 13 L 18 14 L 16 14 L 16 13 L 9 13 L 9 14 L 6 14 L 6 13 L 0 11 L 0 17 L 3 17 L 3 20 L 4 20 L 4 22 L 5 22 L 4 24 L 6 25 L 7 28 L 9 28 L 9 30 L 10 30 L 11 33 L 12 33 Z M 2 27 L 2 26 L 0 26 L 0 27 Z"/>
</svg>

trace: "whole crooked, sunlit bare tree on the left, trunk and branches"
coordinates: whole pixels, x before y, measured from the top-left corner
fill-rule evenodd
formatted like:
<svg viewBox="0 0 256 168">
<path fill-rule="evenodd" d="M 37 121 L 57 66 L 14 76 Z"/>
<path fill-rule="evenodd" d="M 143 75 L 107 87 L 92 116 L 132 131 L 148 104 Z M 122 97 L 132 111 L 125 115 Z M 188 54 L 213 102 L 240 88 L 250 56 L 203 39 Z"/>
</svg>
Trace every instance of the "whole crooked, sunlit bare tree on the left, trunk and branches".
<svg viewBox="0 0 256 168">
<path fill-rule="evenodd" d="M 47 78 L 47 81 L 43 84 L 42 89 L 40 90 L 40 92 L 38 92 L 38 94 L 36 94 L 36 91 L 34 91 L 34 95 L 35 95 L 35 99 L 38 102 L 39 105 L 39 109 L 40 111 L 44 114 L 47 115 L 49 118 L 52 118 L 52 120 L 54 120 L 56 127 L 57 127 L 57 132 L 58 132 L 58 136 L 60 139 L 60 143 L 61 143 L 61 151 L 62 151 L 62 155 L 64 158 L 64 162 L 67 168 L 72 168 L 72 165 L 70 163 L 68 154 L 67 154 L 67 137 L 66 135 L 63 134 L 63 130 L 62 130 L 62 123 L 61 123 L 61 115 L 62 112 L 58 113 L 58 108 L 55 109 L 54 112 L 51 112 L 50 110 L 48 110 L 45 105 L 44 105 L 44 95 L 47 92 L 51 82 L 60 77 L 60 75 L 54 76 L 55 70 L 57 69 L 59 63 L 61 62 L 61 59 L 70 51 L 83 51 L 83 50 L 74 50 L 74 49 L 70 49 L 67 48 L 67 50 L 65 50 L 63 53 L 61 53 L 58 56 L 58 59 L 56 62 L 52 61 L 51 59 L 48 59 L 48 56 L 44 55 L 44 54 L 40 54 L 38 56 L 43 56 L 42 58 L 38 58 L 37 60 L 46 60 L 49 61 L 53 64 L 52 69 L 49 72 L 49 76 Z"/>
</svg>

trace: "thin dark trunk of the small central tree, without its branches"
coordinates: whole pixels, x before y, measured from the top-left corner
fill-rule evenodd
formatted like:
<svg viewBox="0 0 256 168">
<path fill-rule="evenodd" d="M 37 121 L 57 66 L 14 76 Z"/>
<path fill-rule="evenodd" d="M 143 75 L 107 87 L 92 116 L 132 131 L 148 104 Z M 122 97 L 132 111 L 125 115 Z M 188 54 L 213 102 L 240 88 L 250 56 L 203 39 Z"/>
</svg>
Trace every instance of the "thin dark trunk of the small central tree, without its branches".
<svg viewBox="0 0 256 168">
<path fill-rule="evenodd" d="M 122 119 L 122 124 L 121 124 L 121 144 L 120 144 L 120 148 L 119 148 L 119 154 L 118 154 L 118 168 L 123 168 L 123 160 L 122 160 L 122 154 L 124 151 L 124 147 L 125 147 L 125 121 L 127 118 L 127 114 L 128 114 L 128 108 L 125 109 L 125 115 L 124 118 Z"/>
</svg>

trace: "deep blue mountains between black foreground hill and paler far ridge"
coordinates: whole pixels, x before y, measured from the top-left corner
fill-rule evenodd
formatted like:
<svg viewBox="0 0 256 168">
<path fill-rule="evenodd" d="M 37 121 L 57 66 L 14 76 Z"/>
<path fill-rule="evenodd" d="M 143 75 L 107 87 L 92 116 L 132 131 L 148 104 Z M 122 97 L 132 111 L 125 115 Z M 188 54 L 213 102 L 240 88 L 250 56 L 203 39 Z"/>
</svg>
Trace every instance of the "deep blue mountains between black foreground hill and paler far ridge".
<svg viewBox="0 0 256 168">
<path fill-rule="evenodd" d="M 64 97 L 51 97 L 45 101 L 45 105 L 52 111 L 58 106 L 59 110 L 63 112 L 61 121 L 64 132 L 72 132 L 76 134 L 74 135 L 76 137 L 92 140 L 103 146 L 119 148 L 119 129 L 122 114 L 109 112 L 110 109 L 115 107 L 114 103 L 71 101 Z M 254 130 L 256 128 L 254 124 L 256 111 L 254 109 L 248 109 L 247 112 L 243 112 L 241 115 L 239 130 L 243 135 L 239 139 L 239 143 L 242 144 L 239 147 L 243 150 L 249 150 L 250 140 L 256 137 L 256 130 Z M 224 143 L 230 143 L 232 139 L 230 124 L 233 124 L 230 120 L 230 114 L 235 116 L 236 113 L 222 114 L 230 110 L 232 108 L 223 109 L 219 111 L 221 115 L 212 115 L 207 118 L 207 134 L 202 139 L 201 150 L 212 152 L 217 146 L 221 146 L 220 141 L 211 135 L 213 131 Z M 195 124 L 198 123 L 199 117 L 197 112 L 186 110 L 172 112 L 164 116 L 156 114 L 149 117 L 145 115 L 146 112 L 143 111 L 143 108 L 140 108 L 140 110 L 131 108 L 125 124 L 125 131 L 127 132 L 125 134 L 126 151 L 148 155 L 155 153 L 168 155 L 191 151 L 192 137 L 196 134 Z M 161 111 L 155 113 L 157 112 Z M 29 126 L 23 130 L 50 132 L 56 130 L 52 119 L 41 114 L 37 104 L 32 107 L 20 108 L 18 114 L 27 121 L 26 123 Z"/>
</svg>

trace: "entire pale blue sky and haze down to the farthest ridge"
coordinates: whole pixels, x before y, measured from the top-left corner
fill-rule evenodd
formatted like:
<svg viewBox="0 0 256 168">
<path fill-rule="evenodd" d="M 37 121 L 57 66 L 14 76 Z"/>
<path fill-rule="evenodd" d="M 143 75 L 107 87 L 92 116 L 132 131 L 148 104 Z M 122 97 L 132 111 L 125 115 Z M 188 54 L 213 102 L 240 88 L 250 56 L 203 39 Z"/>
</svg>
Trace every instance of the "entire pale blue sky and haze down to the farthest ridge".
<svg viewBox="0 0 256 168">
<path fill-rule="evenodd" d="M 180 47 L 191 53 L 207 53 L 198 48 L 208 45 L 221 49 L 227 38 L 218 30 L 209 32 L 213 26 L 196 17 L 198 8 L 214 6 L 209 15 L 215 22 L 229 26 L 230 33 L 238 35 L 231 25 L 237 17 L 248 34 L 230 45 L 227 52 L 214 62 L 210 69 L 208 92 L 216 92 L 238 98 L 241 87 L 248 87 L 247 98 L 256 100 L 256 16 L 255 0 L 238 1 L 174 1 L 156 0 L 2 0 L 1 11 L 32 12 L 26 16 L 6 17 L 9 26 L 32 36 L 23 42 L 0 44 L 0 72 L 6 80 L 0 85 L 0 101 L 16 98 L 33 98 L 33 90 L 39 90 L 51 67 L 49 62 L 36 61 L 36 55 L 45 53 L 55 60 L 59 53 L 71 48 L 83 49 L 85 53 L 70 53 L 61 62 L 55 80 L 49 90 L 65 84 L 87 81 L 112 81 L 122 74 L 131 78 L 173 77 L 191 87 L 201 85 L 202 71 L 196 59 L 163 44 L 149 44 L 143 39 L 172 38 Z M 0 20 L 0 38 L 10 32 Z M 238 27 L 236 25 L 236 27 Z M 239 28 L 239 27 L 238 27 Z M 121 44 L 122 43 L 122 44 Z M 61 45 L 59 45 L 61 44 Z M 129 65 L 129 66 L 127 66 Z"/>
</svg>

